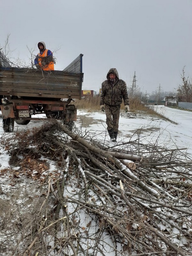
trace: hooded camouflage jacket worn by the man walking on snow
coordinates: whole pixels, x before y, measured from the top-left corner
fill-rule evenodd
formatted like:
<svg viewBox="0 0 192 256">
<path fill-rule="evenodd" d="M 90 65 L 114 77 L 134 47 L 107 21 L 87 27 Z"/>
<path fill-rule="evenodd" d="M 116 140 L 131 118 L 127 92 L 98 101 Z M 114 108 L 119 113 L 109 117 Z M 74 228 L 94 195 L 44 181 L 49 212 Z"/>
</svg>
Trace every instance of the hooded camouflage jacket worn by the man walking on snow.
<svg viewBox="0 0 192 256">
<path fill-rule="evenodd" d="M 116 74 L 116 81 L 114 84 L 110 83 L 109 73 Z M 107 73 L 107 80 L 102 83 L 100 105 L 121 105 L 122 98 L 124 105 L 129 105 L 129 98 L 127 93 L 126 83 L 119 79 L 116 68 L 110 68 Z"/>
</svg>

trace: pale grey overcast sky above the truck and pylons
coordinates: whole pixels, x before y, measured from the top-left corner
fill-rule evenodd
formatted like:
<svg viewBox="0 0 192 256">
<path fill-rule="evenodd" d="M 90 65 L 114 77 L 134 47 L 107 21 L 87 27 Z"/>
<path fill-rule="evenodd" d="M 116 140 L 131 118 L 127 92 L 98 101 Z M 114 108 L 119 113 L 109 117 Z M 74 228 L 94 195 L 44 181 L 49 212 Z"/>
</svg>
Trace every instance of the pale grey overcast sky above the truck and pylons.
<svg viewBox="0 0 192 256">
<path fill-rule="evenodd" d="M 83 90 L 99 91 L 109 68 L 143 93 L 175 91 L 192 76 L 192 0 L 1 1 L 0 48 L 28 62 L 44 41 L 62 70 L 80 53 Z M 28 46 L 28 48 L 27 48 Z"/>
</svg>

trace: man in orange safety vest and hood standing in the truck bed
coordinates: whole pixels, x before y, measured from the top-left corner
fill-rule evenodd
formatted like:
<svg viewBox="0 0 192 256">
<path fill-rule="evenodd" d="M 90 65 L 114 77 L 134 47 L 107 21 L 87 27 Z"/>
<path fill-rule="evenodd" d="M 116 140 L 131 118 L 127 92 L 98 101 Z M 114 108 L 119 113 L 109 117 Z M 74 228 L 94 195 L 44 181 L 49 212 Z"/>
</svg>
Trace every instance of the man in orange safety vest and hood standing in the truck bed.
<svg viewBox="0 0 192 256">
<path fill-rule="evenodd" d="M 54 70 L 53 54 L 50 50 L 46 49 L 44 42 L 38 43 L 39 53 L 37 54 L 34 63 L 38 69 L 45 71 Z"/>
</svg>

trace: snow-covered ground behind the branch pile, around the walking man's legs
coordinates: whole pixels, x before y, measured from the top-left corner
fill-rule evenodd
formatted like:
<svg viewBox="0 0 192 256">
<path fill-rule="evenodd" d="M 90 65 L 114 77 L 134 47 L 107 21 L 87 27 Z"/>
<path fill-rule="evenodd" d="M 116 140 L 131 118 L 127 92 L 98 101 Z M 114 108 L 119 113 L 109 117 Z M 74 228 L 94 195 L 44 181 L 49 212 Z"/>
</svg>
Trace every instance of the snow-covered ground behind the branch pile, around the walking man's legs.
<svg viewBox="0 0 192 256">
<path fill-rule="evenodd" d="M 131 112 L 126 114 L 122 111 L 119 119 L 119 134 L 117 141 L 129 141 L 130 138 L 138 137 L 144 143 L 153 143 L 158 138 L 159 143 L 172 148 L 187 148 L 188 154 L 192 155 L 192 112 L 165 106 L 154 106 L 154 110 L 169 118 L 174 123 L 141 114 L 136 116 Z M 95 133 L 96 138 L 105 138 L 107 134 L 106 115 L 103 112 L 87 113 L 78 111 L 77 126 L 81 126 Z M 90 120 L 90 122 L 89 122 Z M 109 140 L 108 134 L 107 138 Z"/>
</svg>

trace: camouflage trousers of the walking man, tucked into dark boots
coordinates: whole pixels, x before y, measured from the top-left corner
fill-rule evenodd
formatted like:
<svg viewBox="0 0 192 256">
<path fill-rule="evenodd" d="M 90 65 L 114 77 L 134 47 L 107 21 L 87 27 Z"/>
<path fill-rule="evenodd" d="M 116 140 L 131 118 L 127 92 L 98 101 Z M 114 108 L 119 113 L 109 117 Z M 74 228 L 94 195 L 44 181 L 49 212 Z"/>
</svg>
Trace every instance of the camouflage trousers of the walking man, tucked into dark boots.
<svg viewBox="0 0 192 256">
<path fill-rule="evenodd" d="M 105 104 L 106 124 L 108 130 L 113 128 L 114 132 L 118 132 L 120 107 L 120 105 L 110 106 Z"/>
</svg>

